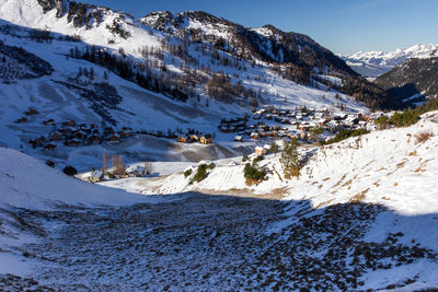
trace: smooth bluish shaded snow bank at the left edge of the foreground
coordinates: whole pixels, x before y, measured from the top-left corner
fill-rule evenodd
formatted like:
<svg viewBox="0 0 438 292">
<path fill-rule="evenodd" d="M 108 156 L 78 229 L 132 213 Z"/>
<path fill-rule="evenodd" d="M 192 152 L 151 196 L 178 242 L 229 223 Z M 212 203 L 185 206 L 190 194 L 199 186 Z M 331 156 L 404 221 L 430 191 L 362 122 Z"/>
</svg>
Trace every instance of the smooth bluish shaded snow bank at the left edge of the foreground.
<svg viewBox="0 0 438 292">
<path fill-rule="evenodd" d="M 127 194 L 69 177 L 16 150 L 0 148 L 0 205 L 53 209 L 57 203 L 120 206 L 146 201 Z"/>
</svg>

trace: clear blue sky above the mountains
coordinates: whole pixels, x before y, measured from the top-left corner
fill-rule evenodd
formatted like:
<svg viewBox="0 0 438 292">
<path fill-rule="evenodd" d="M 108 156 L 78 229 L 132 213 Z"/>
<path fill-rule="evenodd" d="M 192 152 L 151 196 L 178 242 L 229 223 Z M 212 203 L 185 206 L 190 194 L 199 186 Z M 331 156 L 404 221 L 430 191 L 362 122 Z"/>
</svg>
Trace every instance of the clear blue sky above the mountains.
<svg viewBox="0 0 438 292">
<path fill-rule="evenodd" d="M 438 44 L 438 0 L 80 0 L 140 17 L 152 11 L 203 10 L 258 27 L 307 34 L 334 52 Z"/>
</svg>

